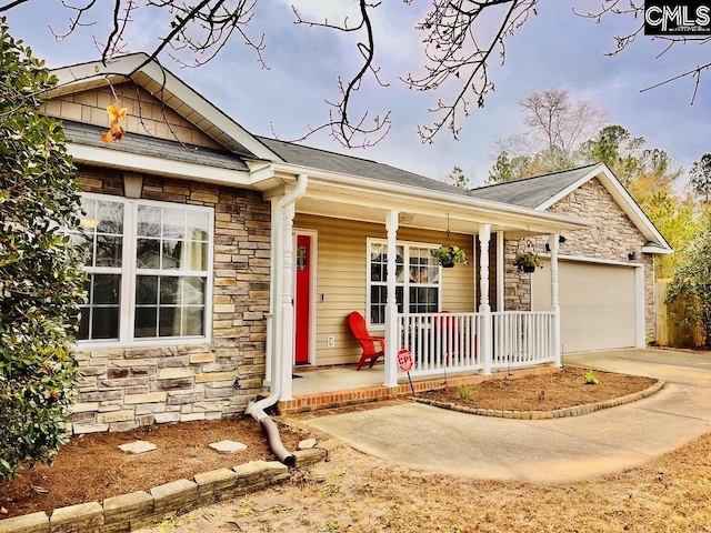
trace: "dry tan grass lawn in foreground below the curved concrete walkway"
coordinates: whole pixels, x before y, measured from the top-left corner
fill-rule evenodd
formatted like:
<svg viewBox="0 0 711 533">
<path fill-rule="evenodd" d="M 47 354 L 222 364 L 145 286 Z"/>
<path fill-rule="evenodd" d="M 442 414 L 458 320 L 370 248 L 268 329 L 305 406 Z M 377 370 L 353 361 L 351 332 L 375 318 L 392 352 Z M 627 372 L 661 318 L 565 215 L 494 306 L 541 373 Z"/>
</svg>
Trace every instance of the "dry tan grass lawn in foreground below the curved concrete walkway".
<svg viewBox="0 0 711 533">
<path fill-rule="evenodd" d="M 711 434 L 643 467 L 562 484 L 435 475 L 343 445 L 290 483 L 143 533 L 711 531 Z"/>
</svg>

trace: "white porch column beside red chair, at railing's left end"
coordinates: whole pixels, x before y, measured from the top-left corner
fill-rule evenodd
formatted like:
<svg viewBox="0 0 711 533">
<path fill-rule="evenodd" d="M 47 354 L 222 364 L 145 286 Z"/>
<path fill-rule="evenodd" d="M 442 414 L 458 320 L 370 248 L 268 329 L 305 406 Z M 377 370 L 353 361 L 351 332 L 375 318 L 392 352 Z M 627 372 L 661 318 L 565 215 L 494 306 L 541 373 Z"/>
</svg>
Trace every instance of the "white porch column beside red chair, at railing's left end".
<svg viewBox="0 0 711 533">
<path fill-rule="evenodd" d="M 385 299 L 385 381 L 384 386 L 398 386 L 398 299 L 395 296 L 395 269 L 398 268 L 398 214 L 390 211 L 385 218 L 388 231 L 388 295 Z"/>
</svg>

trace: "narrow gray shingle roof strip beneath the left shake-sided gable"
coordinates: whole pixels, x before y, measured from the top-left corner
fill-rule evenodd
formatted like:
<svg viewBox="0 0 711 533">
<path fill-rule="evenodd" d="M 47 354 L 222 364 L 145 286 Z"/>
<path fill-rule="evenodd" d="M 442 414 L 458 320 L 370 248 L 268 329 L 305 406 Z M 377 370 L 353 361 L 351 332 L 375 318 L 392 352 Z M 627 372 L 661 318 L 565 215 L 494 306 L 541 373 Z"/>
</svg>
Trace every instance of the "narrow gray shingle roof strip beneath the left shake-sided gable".
<svg viewBox="0 0 711 533">
<path fill-rule="evenodd" d="M 89 147 L 100 147 L 106 150 L 117 150 L 119 152 L 137 153 L 140 155 L 158 157 L 171 161 L 182 161 L 186 163 L 202 164 L 228 170 L 249 171 L 242 159 L 227 150 L 214 150 L 211 148 L 182 144 L 178 141 L 169 141 L 150 135 L 131 133 L 123 140 L 106 144 L 101 135 L 106 133 L 106 128 L 92 124 L 83 124 L 70 120 L 62 121 L 64 137 L 68 141 Z"/>
</svg>

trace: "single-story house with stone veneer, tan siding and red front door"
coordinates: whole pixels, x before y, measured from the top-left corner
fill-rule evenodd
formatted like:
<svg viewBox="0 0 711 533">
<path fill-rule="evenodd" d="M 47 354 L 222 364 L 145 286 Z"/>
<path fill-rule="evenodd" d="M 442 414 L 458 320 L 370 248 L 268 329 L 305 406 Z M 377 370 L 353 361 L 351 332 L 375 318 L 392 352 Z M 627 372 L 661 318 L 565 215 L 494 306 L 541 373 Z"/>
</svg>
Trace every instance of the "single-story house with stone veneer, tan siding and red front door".
<svg viewBox="0 0 711 533">
<path fill-rule="evenodd" d="M 294 368 L 359 360 L 353 310 L 385 338 L 387 390 L 401 348 L 419 379 L 560 364 L 579 265 L 602 284 L 632 272 L 634 333 L 615 343 L 644 344 L 651 261 L 670 249 L 604 167 L 464 191 L 252 135 L 142 53 L 54 73 L 43 112 L 63 121 L 89 250 L 73 433 L 242 413 L 266 386 L 289 402 Z M 128 133 L 106 144 L 112 103 Z M 521 240 L 548 261 L 532 285 L 511 266 Z M 442 244 L 470 264 L 441 268 Z"/>
</svg>

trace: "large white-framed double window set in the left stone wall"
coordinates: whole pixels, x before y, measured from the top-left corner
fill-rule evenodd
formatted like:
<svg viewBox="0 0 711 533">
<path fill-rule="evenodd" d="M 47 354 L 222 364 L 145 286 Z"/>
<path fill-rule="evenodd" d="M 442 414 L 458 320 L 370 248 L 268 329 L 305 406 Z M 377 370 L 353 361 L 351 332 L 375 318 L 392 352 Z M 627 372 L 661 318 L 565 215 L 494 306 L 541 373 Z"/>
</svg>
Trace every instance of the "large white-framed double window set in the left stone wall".
<svg viewBox="0 0 711 533">
<path fill-rule="evenodd" d="M 174 344 L 210 336 L 212 208 L 86 193 L 88 303 L 80 345 Z"/>
</svg>

